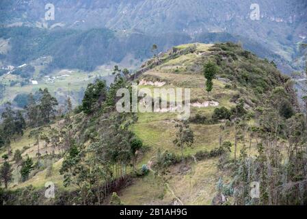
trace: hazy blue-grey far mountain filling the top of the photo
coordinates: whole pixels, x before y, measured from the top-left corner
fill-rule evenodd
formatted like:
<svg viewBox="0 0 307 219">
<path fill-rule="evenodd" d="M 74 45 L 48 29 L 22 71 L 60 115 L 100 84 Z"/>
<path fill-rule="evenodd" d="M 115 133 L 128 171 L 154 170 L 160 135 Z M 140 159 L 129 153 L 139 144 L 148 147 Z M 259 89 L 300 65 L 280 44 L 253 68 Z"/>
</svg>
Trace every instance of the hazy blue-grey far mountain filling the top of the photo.
<svg viewBox="0 0 307 219">
<path fill-rule="evenodd" d="M 260 45 L 259 48 L 276 54 L 276 58 L 282 59 L 281 69 L 286 72 L 293 70 L 287 62 L 293 62 L 299 55 L 297 43 L 307 36 L 307 2 L 304 0 L 259 0 L 259 21 L 250 19 L 250 6 L 254 3 L 250 0 L 54 0 L 51 2 L 55 5 L 54 21 L 44 21 L 46 3 L 50 2 L 3 0 L 0 2 L 1 25 L 76 29 L 104 27 L 123 31 L 123 34 L 133 32 L 158 38 L 165 33 L 198 38 L 199 34 L 225 32 L 251 40 L 255 42 L 254 47 Z M 157 39 L 149 41 L 161 44 Z M 177 41 L 174 44 L 187 42 Z M 161 48 L 164 46 L 172 44 L 160 45 Z"/>
</svg>

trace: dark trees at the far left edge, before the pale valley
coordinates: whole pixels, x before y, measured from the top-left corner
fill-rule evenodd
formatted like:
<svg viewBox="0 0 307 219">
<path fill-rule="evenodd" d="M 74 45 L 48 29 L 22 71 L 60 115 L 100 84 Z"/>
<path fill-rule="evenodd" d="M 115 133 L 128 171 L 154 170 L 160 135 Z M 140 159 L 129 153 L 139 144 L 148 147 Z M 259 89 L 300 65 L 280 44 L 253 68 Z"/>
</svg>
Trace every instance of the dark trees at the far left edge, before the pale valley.
<svg viewBox="0 0 307 219">
<path fill-rule="evenodd" d="M 12 164 L 9 162 L 9 158 L 12 154 L 10 149 L 10 144 L 12 140 L 21 138 L 27 127 L 38 127 L 40 125 L 47 125 L 51 123 L 51 120 L 55 118 L 55 107 L 57 105 L 57 100 L 51 96 L 47 89 L 40 89 L 37 98 L 34 98 L 33 94 L 29 94 L 28 105 L 25 107 L 25 112 L 21 110 L 13 110 L 11 103 L 5 104 L 5 110 L 1 114 L 2 123 L 0 125 L 0 148 L 5 147 L 8 149 L 8 153 L 3 155 L 3 164 L 0 168 L 1 176 L 0 182 L 3 182 L 5 188 L 8 188 L 8 183 L 12 179 Z M 52 136 L 51 140 L 49 137 L 44 136 L 39 129 L 32 131 L 36 137 L 36 144 L 38 145 L 38 162 L 40 162 L 40 149 L 39 149 L 39 140 L 44 140 L 45 148 L 51 143 L 55 143 Z M 53 133 L 53 132 L 51 132 Z M 16 150 L 14 157 L 12 157 L 12 162 L 15 162 L 17 172 L 18 167 L 20 168 L 21 180 L 25 181 L 29 178 L 29 173 L 34 169 L 34 162 L 30 157 L 23 159 L 20 150 Z M 54 154 L 53 154 L 54 155 Z M 17 177 L 19 177 L 17 173 Z M 17 179 L 19 181 L 19 179 Z"/>
</svg>

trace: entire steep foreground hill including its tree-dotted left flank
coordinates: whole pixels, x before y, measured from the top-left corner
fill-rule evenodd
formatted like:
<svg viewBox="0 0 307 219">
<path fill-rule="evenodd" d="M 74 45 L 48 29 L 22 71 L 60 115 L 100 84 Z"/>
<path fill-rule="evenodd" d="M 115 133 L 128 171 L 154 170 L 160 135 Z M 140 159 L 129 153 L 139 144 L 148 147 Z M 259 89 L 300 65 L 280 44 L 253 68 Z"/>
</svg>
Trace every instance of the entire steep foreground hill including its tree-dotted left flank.
<svg viewBox="0 0 307 219">
<path fill-rule="evenodd" d="M 213 79 L 212 92 L 207 94 L 204 90 L 206 80 L 203 70 L 204 64 L 209 61 L 217 65 L 218 74 Z M 250 129 L 243 129 L 243 124 L 250 127 L 263 125 L 263 112 L 272 110 L 274 107 L 274 105 L 268 107 L 267 101 L 271 99 L 271 95 L 277 95 L 280 91 L 284 95 L 284 101 L 281 101 L 281 103 L 274 102 L 276 105 L 283 104 L 286 109 L 286 111 L 279 111 L 280 120 L 289 119 L 295 112 L 299 112 L 290 78 L 282 75 L 273 62 L 269 63 L 267 60 L 259 59 L 256 55 L 241 49 L 238 44 L 196 43 L 179 45 L 148 60 L 133 75 L 133 78 L 139 84 L 139 89 L 191 89 L 189 126 L 193 131 L 194 140 L 191 147 L 183 149 L 183 157 L 181 157 L 181 149 L 173 143 L 177 131 L 175 125 L 178 123 L 176 113 L 118 114 L 109 110 L 114 107 L 110 95 L 114 95 L 117 88 L 128 86 L 128 82 L 126 83 L 122 79 L 112 85 L 107 94 L 101 90 L 101 96 L 98 96 L 96 102 L 91 105 L 94 110 L 92 109 L 90 113 L 84 111 L 84 105 L 87 102 L 83 101 L 83 108 L 79 107 L 75 114 L 70 117 L 72 118 L 71 125 L 70 120 L 66 117 L 65 120 L 59 120 L 51 127 L 40 129 L 42 133 L 51 136 L 54 131 L 51 130 L 52 128 L 70 130 L 68 137 L 74 136 L 73 138 L 78 143 L 81 154 L 85 155 L 82 160 L 84 159 L 83 162 L 89 166 L 92 165 L 90 158 L 95 157 L 92 150 L 96 150 L 97 147 L 96 153 L 102 153 L 102 155 L 98 156 L 95 162 L 103 162 L 101 157 L 107 156 L 104 151 L 109 150 L 105 149 L 108 145 L 111 146 L 112 150 L 115 150 L 121 149 L 126 141 L 131 140 L 131 136 L 135 136 L 132 139 L 141 140 L 144 146 L 139 149 L 138 153 L 133 154 L 133 157 L 136 156 L 133 164 L 136 164 L 137 171 L 143 169 L 145 164 L 146 168 L 149 169 L 147 175 L 139 173 L 135 175 L 132 164 L 130 162 L 125 163 L 126 158 L 120 158 L 120 162 L 111 163 L 113 164 L 113 168 L 110 166 L 111 169 L 109 170 L 111 173 L 95 175 L 96 177 L 105 177 L 105 175 L 110 174 L 111 180 L 118 180 L 116 177 L 119 176 L 120 180 L 126 179 L 123 175 L 128 177 L 129 180 L 122 186 L 118 186 L 118 183 L 120 184 L 122 181 L 117 181 L 116 187 L 113 187 L 113 183 L 110 184 L 111 190 L 118 192 L 120 199 L 127 205 L 173 205 L 182 203 L 185 205 L 211 205 L 217 194 L 217 182 L 221 179 L 224 181 L 224 185 L 231 189 L 228 189 L 229 194 L 225 193 L 228 197 L 227 203 L 233 204 L 234 200 L 237 202 L 239 199 L 237 199 L 236 194 L 232 193 L 232 190 L 239 190 L 241 185 L 237 184 L 237 175 L 235 175 L 237 170 L 234 165 L 241 165 L 242 160 L 244 160 L 241 157 L 244 156 L 246 144 L 250 144 L 250 155 L 253 159 L 256 159 L 258 157 L 258 142 L 262 142 L 261 139 L 263 138 L 260 133 L 255 133 L 256 136 L 249 138 L 250 142 L 248 142 L 249 140 L 245 141 L 242 136 L 245 136 L 245 133 L 247 135 Z M 95 92 L 95 88 L 91 89 L 92 92 Z M 85 92 L 85 96 L 89 98 L 90 90 Z M 222 116 L 218 113 L 220 109 L 229 112 L 232 117 L 220 117 Z M 241 118 L 239 114 L 245 116 Z M 217 118 L 214 115 L 219 117 Z M 27 181 L 21 182 L 15 179 L 14 183 L 10 185 L 10 189 L 16 192 L 14 195 L 18 196 L 27 185 L 34 185 L 34 188 L 27 188 L 27 190 L 38 190 L 42 193 L 44 183 L 53 181 L 59 195 L 49 204 L 60 204 L 65 201 L 66 203 L 79 203 L 80 200 L 78 201 L 78 199 L 72 198 L 66 193 L 72 192 L 74 196 L 78 196 L 78 194 L 73 193 L 75 190 L 81 192 L 79 194 L 82 194 L 82 196 L 79 197 L 80 199 L 82 197 L 83 203 L 85 203 L 83 185 L 90 186 L 89 188 L 93 189 L 94 194 L 96 194 L 97 188 L 101 191 L 106 189 L 99 187 L 101 186 L 99 183 L 98 185 L 96 183 L 91 184 L 92 175 L 89 176 L 90 181 L 87 181 L 88 178 L 86 177 L 82 178 L 83 181 L 81 182 L 89 184 L 82 183 L 81 187 L 73 185 L 64 187 L 63 185 L 67 183 L 67 176 L 59 175 L 59 170 L 63 168 L 63 164 L 69 165 L 66 162 L 71 151 L 70 153 L 66 152 L 63 157 L 63 151 L 67 149 L 60 149 L 59 147 L 58 151 L 55 150 L 55 155 L 50 157 L 53 143 L 46 144 L 44 140 L 40 140 L 36 144 L 35 130 L 28 130 L 21 140 L 12 142 L 12 151 L 14 153 L 16 149 L 21 149 L 23 157 L 29 155 L 34 161 L 37 161 L 39 158 L 36 156 L 36 151 L 38 146 L 41 145 L 44 148 L 43 150 L 46 150 L 45 164 L 42 162 L 40 168 L 33 170 Z M 239 132 L 241 137 L 237 136 Z M 270 132 L 271 128 L 267 127 L 266 133 Z M 286 136 L 282 136 L 283 132 L 279 134 L 281 142 L 282 138 L 286 139 Z M 128 140 L 125 135 L 129 136 Z M 68 137 L 66 136 L 66 138 Z M 230 144 L 229 158 L 224 156 L 227 151 L 222 146 L 223 142 Z M 279 140 L 276 142 L 279 142 Z M 59 143 L 59 145 L 62 144 L 66 145 Z M 100 146 L 102 147 L 100 148 Z M 1 149 L 1 151 L 2 155 L 6 153 L 4 149 Z M 285 153 L 286 149 L 284 148 L 281 151 Z M 112 152 L 111 155 L 121 157 L 122 154 L 125 157 L 124 153 L 126 152 L 125 150 L 120 151 L 120 153 Z M 270 156 L 270 153 L 268 153 L 268 156 Z M 239 163 L 235 164 L 234 159 L 235 162 Z M 14 163 L 12 157 L 9 160 Z M 63 162 L 63 160 L 66 160 L 66 162 Z M 257 160 L 253 162 L 256 163 Z M 105 165 L 105 163 L 101 164 Z M 13 165 L 15 171 L 18 170 L 16 164 Z M 82 166 L 82 163 L 78 165 Z M 89 171 L 92 173 L 94 169 L 90 168 Z M 79 176 L 79 171 L 77 175 Z M 253 177 L 256 180 L 257 175 L 253 175 Z M 81 179 L 78 178 L 78 180 Z M 38 195 L 36 199 L 32 200 L 32 204 L 39 203 L 41 200 L 44 200 L 43 197 Z M 101 203 L 100 199 L 95 200 L 95 198 L 86 199 L 88 204 Z M 10 201 L 14 203 L 13 200 Z M 48 204 L 46 200 L 43 203 Z M 109 196 L 103 203 L 109 203 Z"/>
</svg>

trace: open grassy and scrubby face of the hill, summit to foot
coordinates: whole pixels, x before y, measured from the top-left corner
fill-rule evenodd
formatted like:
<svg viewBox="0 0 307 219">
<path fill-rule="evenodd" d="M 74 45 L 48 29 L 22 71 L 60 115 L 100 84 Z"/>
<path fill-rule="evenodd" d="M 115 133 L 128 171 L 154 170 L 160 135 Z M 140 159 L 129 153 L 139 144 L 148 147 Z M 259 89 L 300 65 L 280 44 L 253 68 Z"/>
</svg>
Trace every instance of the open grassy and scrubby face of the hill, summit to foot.
<svg viewBox="0 0 307 219">
<path fill-rule="evenodd" d="M 209 98 L 204 90 L 202 75 L 202 65 L 208 60 L 216 60 L 219 64 L 219 75 L 213 82 L 213 92 Z M 203 151 L 218 149 L 220 138 L 226 138 L 235 144 L 234 127 L 230 127 L 228 136 L 225 137 L 221 129 L 223 123 L 210 124 L 209 120 L 214 110 L 219 107 L 230 109 L 238 103 L 238 99 L 242 98 L 245 100 L 245 109 L 254 112 L 259 105 L 262 105 L 263 94 L 278 86 L 289 90 L 293 95 L 293 105 L 296 105 L 289 78 L 281 75 L 273 64 L 258 59 L 235 44 L 181 45 L 148 61 L 143 67 L 139 81 L 165 82 L 163 88 L 191 88 L 191 103 L 206 103 L 213 100 L 218 106 L 201 107 L 200 104 L 196 104 L 193 107 L 192 105 L 190 120 L 195 141 L 191 148 L 184 150 L 185 156 L 192 157 L 192 162 L 171 167 L 162 181 L 153 175 L 137 179 L 131 187 L 120 193 L 122 201 L 131 205 L 139 203 L 169 205 L 174 203 L 176 198 L 180 198 L 185 205 L 211 205 L 219 177 L 223 177 L 224 183 L 230 183 L 231 173 L 217 168 L 219 159 L 216 157 L 202 160 L 200 154 Z M 155 86 L 143 87 L 155 88 Z M 145 155 L 144 162 L 155 160 L 158 149 L 180 154 L 180 149 L 176 149 L 172 142 L 176 131 L 174 120 L 176 114 L 139 114 L 139 120 L 134 125 L 133 131 L 145 144 L 154 148 Z M 251 120 L 250 124 L 253 123 Z M 252 153 L 256 152 L 255 145 L 256 140 L 253 140 Z M 239 144 L 238 151 L 242 146 Z M 234 153 L 232 148 L 232 157 Z M 197 160 L 198 156 L 200 161 Z"/>
</svg>

